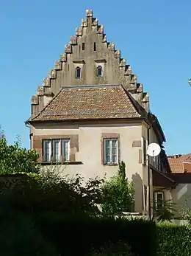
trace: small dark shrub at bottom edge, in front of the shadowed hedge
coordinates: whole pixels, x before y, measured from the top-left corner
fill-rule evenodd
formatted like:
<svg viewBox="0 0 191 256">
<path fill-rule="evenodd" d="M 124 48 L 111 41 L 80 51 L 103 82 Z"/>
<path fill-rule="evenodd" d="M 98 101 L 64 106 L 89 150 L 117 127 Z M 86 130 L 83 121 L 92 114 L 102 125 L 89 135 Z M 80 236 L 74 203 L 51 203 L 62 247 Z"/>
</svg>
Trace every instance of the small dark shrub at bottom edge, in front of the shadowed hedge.
<svg viewBox="0 0 191 256">
<path fill-rule="evenodd" d="M 104 244 L 101 249 L 97 251 L 90 252 L 87 256 L 135 256 L 134 253 L 131 252 L 131 247 L 126 243 L 126 241 L 118 241 L 117 243 L 108 242 Z"/>
</svg>

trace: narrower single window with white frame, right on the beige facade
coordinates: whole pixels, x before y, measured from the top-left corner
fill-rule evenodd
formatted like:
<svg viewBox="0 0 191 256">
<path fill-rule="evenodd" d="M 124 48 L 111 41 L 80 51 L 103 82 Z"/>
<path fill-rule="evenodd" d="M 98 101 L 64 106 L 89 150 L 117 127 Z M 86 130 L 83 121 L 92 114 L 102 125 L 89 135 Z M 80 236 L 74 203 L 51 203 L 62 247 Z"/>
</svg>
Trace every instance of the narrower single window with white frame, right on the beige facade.
<svg viewBox="0 0 191 256">
<path fill-rule="evenodd" d="M 118 139 L 104 139 L 104 165 L 118 164 Z"/>
</svg>

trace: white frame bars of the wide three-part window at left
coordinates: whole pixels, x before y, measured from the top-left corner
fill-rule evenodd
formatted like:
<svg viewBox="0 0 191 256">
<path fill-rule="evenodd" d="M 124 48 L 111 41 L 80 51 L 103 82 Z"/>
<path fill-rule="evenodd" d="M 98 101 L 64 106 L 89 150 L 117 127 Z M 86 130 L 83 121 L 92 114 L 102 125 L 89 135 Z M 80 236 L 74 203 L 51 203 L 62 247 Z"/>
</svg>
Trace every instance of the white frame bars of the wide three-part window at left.
<svg viewBox="0 0 191 256">
<path fill-rule="evenodd" d="M 54 151 L 54 142 L 59 141 L 59 159 L 54 160 L 53 151 Z M 68 152 L 67 152 L 67 159 L 65 162 L 70 161 L 70 139 L 43 139 L 43 162 L 51 162 L 53 159 L 53 162 L 62 162 L 62 141 L 68 142 Z M 45 161 L 45 155 L 46 155 L 46 147 L 45 142 L 49 142 L 49 161 Z"/>
</svg>

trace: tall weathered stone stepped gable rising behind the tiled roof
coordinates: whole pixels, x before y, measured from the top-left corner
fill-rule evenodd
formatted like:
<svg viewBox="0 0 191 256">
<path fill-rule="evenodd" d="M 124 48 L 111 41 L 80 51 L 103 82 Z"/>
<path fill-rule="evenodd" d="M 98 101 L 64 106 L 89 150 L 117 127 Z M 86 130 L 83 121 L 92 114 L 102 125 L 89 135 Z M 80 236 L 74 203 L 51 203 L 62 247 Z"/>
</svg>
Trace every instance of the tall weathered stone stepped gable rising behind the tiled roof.
<svg viewBox="0 0 191 256">
<path fill-rule="evenodd" d="M 103 77 L 95 75 L 98 65 L 103 66 Z M 80 79 L 75 77 L 76 66 L 82 69 Z M 98 24 L 98 18 L 93 18 L 92 10 L 87 10 L 86 18 L 76 28 L 76 35 L 71 36 L 70 43 L 55 62 L 54 69 L 43 79 L 43 85 L 38 87 L 37 94 L 32 96 L 31 117 L 35 117 L 62 86 L 96 84 L 123 85 L 145 111 L 149 111 L 149 97 L 143 91 L 143 84 L 137 83 L 137 76 L 132 74 L 131 66 L 121 58 L 120 50 L 115 49 L 114 43 L 107 41 L 104 26 Z M 66 94 L 61 94 L 63 93 Z"/>
</svg>

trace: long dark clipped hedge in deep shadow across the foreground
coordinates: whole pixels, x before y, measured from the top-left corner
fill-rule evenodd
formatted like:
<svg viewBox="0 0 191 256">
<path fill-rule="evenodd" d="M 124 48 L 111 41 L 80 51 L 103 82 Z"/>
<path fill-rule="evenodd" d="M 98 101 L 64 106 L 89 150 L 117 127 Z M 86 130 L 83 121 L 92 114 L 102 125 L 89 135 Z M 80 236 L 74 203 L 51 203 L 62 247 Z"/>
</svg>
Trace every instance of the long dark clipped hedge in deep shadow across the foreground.
<svg viewBox="0 0 191 256">
<path fill-rule="evenodd" d="M 87 215 L 38 215 L 43 235 L 54 243 L 61 255 L 87 255 L 106 243 L 124 241 L 134 255 L 156 255 L 156 225 L 153 222 Z"/>
</svg>

